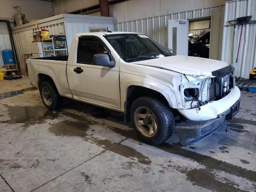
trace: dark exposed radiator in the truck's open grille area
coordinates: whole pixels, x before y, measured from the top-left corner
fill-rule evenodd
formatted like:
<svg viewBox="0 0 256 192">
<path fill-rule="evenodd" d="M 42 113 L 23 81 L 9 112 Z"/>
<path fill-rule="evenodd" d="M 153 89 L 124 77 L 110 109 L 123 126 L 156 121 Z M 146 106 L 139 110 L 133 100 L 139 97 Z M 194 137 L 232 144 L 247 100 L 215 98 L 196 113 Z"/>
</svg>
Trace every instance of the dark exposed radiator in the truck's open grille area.
<svg viewBox="0 0 256 192">
<path fill-rule="evenodd" d="M 211 78 L 209 88 L 209 101 L 218 100 L 221 97 L 221 78 Z"/>
</svg>

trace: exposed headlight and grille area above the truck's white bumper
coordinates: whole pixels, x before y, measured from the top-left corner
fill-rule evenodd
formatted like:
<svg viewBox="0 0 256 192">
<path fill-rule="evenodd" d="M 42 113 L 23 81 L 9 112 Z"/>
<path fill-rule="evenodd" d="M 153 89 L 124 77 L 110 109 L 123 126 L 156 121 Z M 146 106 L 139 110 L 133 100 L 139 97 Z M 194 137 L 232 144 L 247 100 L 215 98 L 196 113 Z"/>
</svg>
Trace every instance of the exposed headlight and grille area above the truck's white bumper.
<svg viewBox="0 0 256 192">
<path fill-rule="evenodd" d="M 221 69 L 223 70 L 223 69 Z M 231 70 L 212 72 L 211 75 L 182 74 L 182 83 L 179 86 L 182 109 L 197 108 L 198 111 L 209 102 L 220 100 L 235 87 L 235 78 L 230 74 Z M 226 72 L 228 74 L 226 74 Z"/>
</svg>

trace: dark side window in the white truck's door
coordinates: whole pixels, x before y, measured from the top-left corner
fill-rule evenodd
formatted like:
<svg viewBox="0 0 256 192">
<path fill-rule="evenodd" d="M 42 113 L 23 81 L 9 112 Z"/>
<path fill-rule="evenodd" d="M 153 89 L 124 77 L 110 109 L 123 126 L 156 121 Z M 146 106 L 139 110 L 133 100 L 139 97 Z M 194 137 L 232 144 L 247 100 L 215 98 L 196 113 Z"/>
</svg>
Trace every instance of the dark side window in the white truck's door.
<svg viewBox="0 0 256 192">
<path fill-rule="evenodd" d="M 98 38 L 79 38 L 77 63 L 92 64 L 95 54 L 108 53 L 103 42 Z"/>
</svg>

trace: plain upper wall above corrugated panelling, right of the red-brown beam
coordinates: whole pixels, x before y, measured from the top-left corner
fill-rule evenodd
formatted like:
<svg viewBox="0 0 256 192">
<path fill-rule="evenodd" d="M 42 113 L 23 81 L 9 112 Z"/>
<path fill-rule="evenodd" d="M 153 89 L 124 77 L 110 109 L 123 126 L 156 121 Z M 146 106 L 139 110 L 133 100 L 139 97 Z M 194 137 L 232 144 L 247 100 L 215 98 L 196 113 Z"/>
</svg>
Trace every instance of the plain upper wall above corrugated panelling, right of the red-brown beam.
<svg viewBox="0 0 256 192">
<path fill-rule="evenodd" d="M 172 13 L 224 5 L 228 0 L 128 0 L 110 6 L 117 22 L 132 21 Z"/>
</svg>

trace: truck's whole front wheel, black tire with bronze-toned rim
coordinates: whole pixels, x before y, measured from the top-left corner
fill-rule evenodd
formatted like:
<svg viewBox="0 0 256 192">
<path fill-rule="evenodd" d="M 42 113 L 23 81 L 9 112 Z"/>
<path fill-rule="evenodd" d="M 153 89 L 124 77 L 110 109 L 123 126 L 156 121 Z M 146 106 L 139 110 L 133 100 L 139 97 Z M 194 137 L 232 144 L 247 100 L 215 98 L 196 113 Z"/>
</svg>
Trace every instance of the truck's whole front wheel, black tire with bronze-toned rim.
<svg viewBox="0 0 256 192">
<path fill-rule="evenodd" d="M 138 137 L 146 143 L 157 145 L 165 142 L 175 127 L 169 106 L 151 97 L 136 99 L 130 110 L 130 119 Z"/>
</svg>

